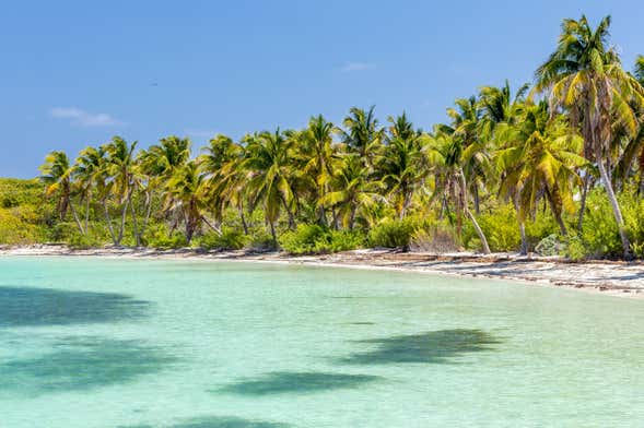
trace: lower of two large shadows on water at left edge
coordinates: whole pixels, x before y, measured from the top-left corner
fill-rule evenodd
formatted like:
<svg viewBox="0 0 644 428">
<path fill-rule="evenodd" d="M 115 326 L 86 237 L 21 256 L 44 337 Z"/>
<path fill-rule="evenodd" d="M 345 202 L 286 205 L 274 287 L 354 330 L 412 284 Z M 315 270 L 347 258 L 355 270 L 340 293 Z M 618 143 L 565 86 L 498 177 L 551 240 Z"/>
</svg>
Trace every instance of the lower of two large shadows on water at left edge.
<svg viewBox="0 0 644 428">
<path fill-rule="evenodd" d="M 0 364 L 0 391 L 28 395 L 126 383 L 175 361 L 140 341 L 71 338 L 38 357 Z"/>
</svg>

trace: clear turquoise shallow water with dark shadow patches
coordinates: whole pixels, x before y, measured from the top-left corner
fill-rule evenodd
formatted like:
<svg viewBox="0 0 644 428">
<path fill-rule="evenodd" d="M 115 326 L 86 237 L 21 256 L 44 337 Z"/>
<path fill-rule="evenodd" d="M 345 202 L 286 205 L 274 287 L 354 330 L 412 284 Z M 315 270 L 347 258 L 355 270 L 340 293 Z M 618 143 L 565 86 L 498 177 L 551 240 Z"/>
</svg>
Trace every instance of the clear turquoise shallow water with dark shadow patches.
<svg viewBox="0 0 644 428">
<path fill-rule="evenodd" d="M 0 258 L 1 427 L 641 427 L 644 301 L 274 264 Z"/>
</svg>

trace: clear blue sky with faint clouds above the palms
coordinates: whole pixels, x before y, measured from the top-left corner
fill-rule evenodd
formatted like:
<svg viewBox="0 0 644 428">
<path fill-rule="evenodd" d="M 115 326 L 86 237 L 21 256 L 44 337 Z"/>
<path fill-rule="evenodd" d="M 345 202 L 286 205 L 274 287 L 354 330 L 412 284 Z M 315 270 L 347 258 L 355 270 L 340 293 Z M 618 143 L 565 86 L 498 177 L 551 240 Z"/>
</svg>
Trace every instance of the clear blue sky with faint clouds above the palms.
<svg viewBox="0 0 644 428">
<path fill-rule="evenodd" d="M 0 177 L 28 178 L 114 135 L 141 147 L 340 123 L 352 106 L 417 127 L 483 85 L 516 87 L 564 17 L 612 15 L 628 69 L 642 1 L 7 1 L 0 12 Z"/>
</svg>

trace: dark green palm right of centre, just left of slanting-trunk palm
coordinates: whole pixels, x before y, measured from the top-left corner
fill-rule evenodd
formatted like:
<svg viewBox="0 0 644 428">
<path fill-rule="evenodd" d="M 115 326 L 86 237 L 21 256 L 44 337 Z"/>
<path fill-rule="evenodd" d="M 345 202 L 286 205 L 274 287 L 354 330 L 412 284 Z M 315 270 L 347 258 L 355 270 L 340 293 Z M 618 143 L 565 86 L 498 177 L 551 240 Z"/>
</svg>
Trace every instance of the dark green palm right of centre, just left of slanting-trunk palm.
<svg viewBox="0 0 644 428">
<path fill-rule="evenodd" d="M 397 118 L 389 117 L 388 121 L 391 123 L 389 135 L 377 168 L 389 198 L 395 200 L 398 217 L 402 219 L 429 169 L 422 152 L 421 132 L 413 129 L 407 115 L 402 112 Z"/>
</svg>

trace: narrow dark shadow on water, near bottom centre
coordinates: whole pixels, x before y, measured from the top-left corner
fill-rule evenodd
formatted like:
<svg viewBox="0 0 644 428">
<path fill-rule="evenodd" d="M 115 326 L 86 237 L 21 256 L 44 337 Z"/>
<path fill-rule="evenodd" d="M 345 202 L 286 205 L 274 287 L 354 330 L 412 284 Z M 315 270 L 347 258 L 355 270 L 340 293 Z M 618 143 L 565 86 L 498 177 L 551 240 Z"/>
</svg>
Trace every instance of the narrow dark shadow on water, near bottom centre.
<svg viewBox="0 0 644 428">
<path fill-rule="evenodd" d="M 268 395 L 283 393 L 312 393 L 327 390 L 358 388 L 380 380 L 378 376 L 341 374 L 317 371 L 274 371 L 254 380 L 245 380 L 224 387 L 219 391 L 243 395 Z"/>
</svg>

